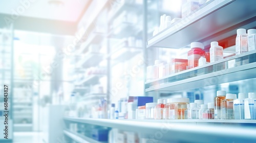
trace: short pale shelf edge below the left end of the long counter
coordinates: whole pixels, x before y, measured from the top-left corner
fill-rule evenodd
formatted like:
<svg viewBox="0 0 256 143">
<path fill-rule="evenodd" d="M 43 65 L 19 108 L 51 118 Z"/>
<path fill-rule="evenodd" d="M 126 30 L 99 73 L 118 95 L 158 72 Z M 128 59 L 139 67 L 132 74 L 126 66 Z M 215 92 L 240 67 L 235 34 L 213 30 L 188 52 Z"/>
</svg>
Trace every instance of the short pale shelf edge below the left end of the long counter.
<svg viewBox="0 0 256 143">
<path fill-rule="evenodd" d="M 94 140 L 90 137 L 84 136 L 84 135 L 79 134 L 79 133 L 71 132 L 69 130 L 64 130 L 63 133 L 65 135 L 69 136 L 70 138 L 72 138 L 73 140 L 75 140 L 76 142 L 101 143 L 100 141 Z"/>
</svg>

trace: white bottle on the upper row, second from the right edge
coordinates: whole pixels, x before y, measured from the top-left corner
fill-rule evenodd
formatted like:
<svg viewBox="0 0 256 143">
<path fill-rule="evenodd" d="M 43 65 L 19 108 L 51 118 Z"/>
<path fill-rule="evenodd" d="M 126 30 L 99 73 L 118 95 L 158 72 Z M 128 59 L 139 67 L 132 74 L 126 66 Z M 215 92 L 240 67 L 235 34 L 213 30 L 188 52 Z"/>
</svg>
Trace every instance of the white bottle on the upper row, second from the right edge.
<svg viewBox="0 0 256 143">
<path fill-rule="evenodd" d="M 237 30 L 236 55 L 248 52 L 247 34 L 245 29 Z"/>
</svg>

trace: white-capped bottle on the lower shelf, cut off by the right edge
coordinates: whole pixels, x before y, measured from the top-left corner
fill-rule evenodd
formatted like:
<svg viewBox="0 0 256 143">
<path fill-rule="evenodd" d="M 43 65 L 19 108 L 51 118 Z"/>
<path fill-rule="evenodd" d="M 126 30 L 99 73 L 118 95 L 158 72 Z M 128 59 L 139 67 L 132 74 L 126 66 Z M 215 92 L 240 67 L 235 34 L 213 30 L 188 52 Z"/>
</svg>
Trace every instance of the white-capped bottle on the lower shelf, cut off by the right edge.
<svg viewBox="0 0 256 143">
<path fill-rule="evenodd" d="M 256 93 L 248 93 L 248 98 L 244 100 L 244 118 L 256 119 Z"/>
</svg>

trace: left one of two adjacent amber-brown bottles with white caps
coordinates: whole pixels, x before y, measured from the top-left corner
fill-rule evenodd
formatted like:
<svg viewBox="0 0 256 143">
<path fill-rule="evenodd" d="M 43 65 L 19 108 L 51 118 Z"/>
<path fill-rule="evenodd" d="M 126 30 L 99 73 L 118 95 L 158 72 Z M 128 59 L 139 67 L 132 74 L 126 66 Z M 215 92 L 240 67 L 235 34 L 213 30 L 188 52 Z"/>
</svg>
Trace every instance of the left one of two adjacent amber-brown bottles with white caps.
<svg viewBox="0 0 256 143">
<path fill-rule="evenodd" d="M 222 101 L 226 99 L 226 91 L 218 90 L 217 97 L 214 98 L 214 118 L 221 119 L 221 105 Z"/>
</svg>

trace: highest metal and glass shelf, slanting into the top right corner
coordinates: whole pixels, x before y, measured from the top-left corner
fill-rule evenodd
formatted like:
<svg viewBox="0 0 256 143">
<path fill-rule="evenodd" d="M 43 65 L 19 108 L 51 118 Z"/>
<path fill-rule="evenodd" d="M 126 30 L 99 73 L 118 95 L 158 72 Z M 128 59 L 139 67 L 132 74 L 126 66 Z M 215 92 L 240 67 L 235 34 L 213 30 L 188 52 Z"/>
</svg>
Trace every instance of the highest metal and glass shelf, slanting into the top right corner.
<svg viewBox="0 0 256 143">
<path fill-rule="evenodd" d="M 239 28 L 255 28 L 255 4 L 253 0 L 213 1 L 149 39 L 147 47 L 179 49 L 194 41 L 207 46 L 236 35 Z"/>
</svg>

